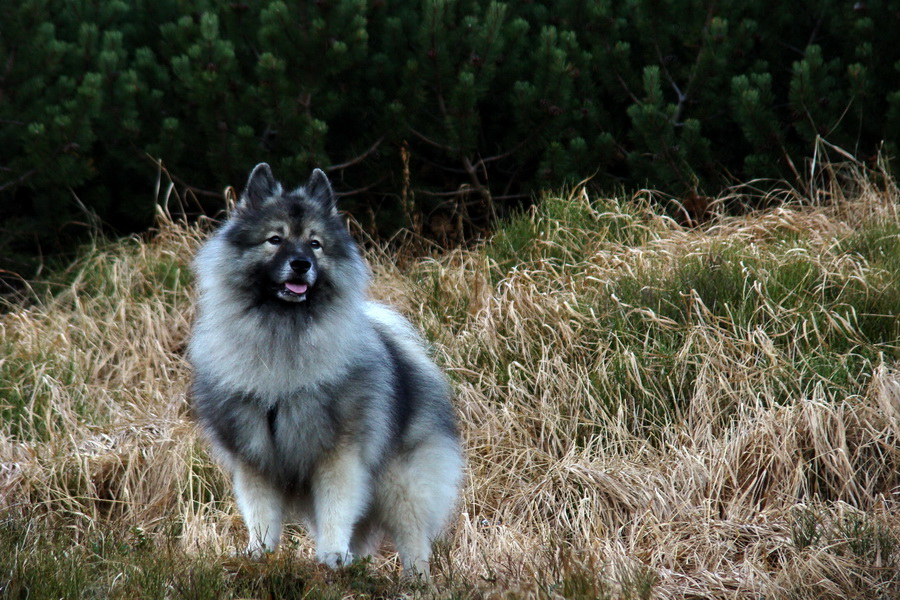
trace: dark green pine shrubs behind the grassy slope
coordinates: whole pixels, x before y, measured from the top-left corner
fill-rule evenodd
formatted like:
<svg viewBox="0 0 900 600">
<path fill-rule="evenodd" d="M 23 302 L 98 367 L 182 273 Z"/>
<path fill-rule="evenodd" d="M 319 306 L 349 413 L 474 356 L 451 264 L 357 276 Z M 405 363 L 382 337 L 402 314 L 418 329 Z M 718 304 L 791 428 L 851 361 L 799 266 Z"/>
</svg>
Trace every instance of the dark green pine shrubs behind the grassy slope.
<svg viewBox="0 0 900 600">
<path fill-rule="evenodd" d="M 155 187 L 215 213 L 260 161 L 322 167 L 375 235 L 485 234 L 542 189 L 650 186 L 700 220 L 802 184 L 821 136 L 896 151 L 900 2 L 0 0 L 0 269 Z"/>
</svg>

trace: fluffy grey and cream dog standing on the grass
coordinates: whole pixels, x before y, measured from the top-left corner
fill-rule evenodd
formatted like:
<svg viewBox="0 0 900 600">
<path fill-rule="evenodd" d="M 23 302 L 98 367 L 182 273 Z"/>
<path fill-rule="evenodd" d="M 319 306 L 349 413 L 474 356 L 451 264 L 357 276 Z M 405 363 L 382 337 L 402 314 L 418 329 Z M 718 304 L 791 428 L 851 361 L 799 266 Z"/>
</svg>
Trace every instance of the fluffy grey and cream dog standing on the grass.
<svg viewBox="0 0 900 600">
<path fill-rule="evenodd" d="M 428 575 L 462 477 L 450 389 L 413 327 L 367 301 L 368 269 L 325 173 L 250 175 L 194 270 L 200 425 L 231 473 L 252 555 L 302 518 L 331 567 L 393 539 Z"/>
</svg>

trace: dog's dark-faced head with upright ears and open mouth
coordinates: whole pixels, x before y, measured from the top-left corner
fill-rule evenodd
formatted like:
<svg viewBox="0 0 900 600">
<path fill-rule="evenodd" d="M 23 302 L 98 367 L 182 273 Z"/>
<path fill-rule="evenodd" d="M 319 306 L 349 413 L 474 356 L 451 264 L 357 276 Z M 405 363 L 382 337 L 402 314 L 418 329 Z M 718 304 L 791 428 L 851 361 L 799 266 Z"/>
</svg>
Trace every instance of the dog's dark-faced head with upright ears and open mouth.
<svg viewBox="0 0 900 600">
<path fill-rule="evenodd" d="M 359 252 L 319 169 L 287 191 L 269 165 L 257 165 L 224 235 L 260 301 L 319 302 L 361 286 Z"/>
</svg>

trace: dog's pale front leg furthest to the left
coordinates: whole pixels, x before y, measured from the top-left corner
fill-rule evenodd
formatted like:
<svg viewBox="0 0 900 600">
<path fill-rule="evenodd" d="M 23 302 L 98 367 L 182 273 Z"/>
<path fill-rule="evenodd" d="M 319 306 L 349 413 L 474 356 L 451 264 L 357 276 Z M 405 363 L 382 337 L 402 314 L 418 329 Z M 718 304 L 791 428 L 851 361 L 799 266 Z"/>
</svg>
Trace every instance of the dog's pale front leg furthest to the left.
<svg viewBox="0 0 900 600">
<path fill-rule="evenodd" d="M 259 557 L 274 552 L 281 540 L 284 496 L 265 477 L 237 463 L 234 467 L 234 494 L 247 526 L 247 553 Z"/>
</svg>

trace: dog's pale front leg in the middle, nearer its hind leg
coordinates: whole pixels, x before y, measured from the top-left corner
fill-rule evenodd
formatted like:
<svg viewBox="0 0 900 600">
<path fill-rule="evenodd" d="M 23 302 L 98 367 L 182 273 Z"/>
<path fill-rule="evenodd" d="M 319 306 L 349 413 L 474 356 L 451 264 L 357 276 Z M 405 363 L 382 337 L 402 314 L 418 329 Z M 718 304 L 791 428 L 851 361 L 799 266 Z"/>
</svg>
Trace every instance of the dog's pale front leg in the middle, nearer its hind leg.
<svg viewBox="0 0 900 600">
<path fill-rule="evenodd" d="M 355 447 L 339 447 L 313 477 L 316 560 L 329 567 L 348 564 L 353 526 L 370 496 L 368 469 Z"/>
</svg>

